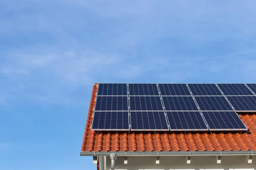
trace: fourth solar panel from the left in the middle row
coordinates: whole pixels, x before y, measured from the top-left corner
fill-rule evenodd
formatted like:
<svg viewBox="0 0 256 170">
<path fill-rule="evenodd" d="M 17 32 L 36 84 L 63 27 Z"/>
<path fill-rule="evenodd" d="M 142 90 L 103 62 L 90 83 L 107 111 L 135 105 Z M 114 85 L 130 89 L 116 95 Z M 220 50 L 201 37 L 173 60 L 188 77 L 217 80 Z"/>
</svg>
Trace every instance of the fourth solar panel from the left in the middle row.
<svg viewBox="0 0 256 170">
<path fill-rule="evenodd" d="M 233 111 L 224 96 L 195 96 L 201 111 Z"/>
</svg>

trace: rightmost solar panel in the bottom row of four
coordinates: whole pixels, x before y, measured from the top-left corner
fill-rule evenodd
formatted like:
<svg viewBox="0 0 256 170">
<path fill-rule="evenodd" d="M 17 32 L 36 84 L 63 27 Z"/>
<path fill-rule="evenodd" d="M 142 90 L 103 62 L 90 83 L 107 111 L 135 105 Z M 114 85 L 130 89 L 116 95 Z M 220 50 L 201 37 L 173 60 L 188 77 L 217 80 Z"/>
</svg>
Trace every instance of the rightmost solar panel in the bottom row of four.
<svg viewBox="0 0 256 170">
<path fill-rule="evenodd" d="M 203 111 L 209 130 L 247 130 L 234 111 Z"/>
</svg>

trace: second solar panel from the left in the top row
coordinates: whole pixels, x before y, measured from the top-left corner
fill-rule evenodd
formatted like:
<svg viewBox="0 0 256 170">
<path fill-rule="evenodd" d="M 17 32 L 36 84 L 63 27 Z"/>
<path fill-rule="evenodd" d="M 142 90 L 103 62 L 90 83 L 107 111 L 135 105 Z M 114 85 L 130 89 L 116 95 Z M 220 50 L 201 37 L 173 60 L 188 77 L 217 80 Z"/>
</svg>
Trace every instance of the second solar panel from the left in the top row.
<svg viewBox="0 0 256 170">
<path fill-rule="evenodd" d="M 129 84 L 130 96 L 159 96 L 157 84 Z"/>
</svg>

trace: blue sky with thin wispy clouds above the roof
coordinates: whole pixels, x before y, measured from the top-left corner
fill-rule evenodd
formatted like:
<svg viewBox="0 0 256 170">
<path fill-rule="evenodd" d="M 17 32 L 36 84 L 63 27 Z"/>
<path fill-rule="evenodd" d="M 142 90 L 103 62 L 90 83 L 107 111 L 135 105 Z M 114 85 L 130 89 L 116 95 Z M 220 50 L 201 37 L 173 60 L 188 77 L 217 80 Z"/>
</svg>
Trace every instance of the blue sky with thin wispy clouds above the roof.
<svg viewBox="0 0 256 170">
<path fill-rule="evenodd" d="M 0 169 L 80 156 L 98 82 L 256 83 L 253 0 L 0 0 Z"/>
</svg>

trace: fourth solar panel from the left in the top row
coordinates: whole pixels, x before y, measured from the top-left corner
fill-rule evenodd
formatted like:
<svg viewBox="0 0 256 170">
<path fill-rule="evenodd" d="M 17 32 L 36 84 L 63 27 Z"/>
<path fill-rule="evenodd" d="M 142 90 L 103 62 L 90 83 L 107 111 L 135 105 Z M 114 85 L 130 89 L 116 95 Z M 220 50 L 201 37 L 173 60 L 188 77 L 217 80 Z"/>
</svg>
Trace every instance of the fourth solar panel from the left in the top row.
<svg viewBox="0 0 256 170">
<path fill-rule="evenodd" d="M 188 84 L 194 96 L 223 96 L 215 84 Z"/>
</svg>

